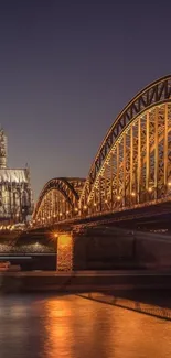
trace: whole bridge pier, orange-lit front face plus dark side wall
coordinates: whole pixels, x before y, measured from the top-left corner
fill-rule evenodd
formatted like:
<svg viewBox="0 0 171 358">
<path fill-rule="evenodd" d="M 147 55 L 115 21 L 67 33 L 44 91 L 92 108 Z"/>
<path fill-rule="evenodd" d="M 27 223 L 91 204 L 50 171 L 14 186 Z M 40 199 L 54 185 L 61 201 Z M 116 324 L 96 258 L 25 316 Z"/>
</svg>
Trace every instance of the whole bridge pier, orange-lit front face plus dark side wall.
<svg viewBox="0 0 171 358">
<path fill-rule="evenodd" d="M 57 234 L 56 271 L 114 269 L 132 265 L 133 237 L 115 229 L 85 229 Z"/>
</svg>

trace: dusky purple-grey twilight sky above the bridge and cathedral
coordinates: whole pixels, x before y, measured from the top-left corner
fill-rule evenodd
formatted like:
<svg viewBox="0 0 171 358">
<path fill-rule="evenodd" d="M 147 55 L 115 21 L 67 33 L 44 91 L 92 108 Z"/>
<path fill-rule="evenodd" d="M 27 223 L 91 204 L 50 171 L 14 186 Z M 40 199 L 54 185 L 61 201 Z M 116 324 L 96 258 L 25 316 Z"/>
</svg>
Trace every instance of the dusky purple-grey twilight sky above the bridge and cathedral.
<svg viewBox="0 0 171 358">
<path fill-rule="evenodd" d="M 171 73 L 170 0 L 0 0 L 0 123 L 9 166 L 87 176 L 118 112 Z"/>
</svg>

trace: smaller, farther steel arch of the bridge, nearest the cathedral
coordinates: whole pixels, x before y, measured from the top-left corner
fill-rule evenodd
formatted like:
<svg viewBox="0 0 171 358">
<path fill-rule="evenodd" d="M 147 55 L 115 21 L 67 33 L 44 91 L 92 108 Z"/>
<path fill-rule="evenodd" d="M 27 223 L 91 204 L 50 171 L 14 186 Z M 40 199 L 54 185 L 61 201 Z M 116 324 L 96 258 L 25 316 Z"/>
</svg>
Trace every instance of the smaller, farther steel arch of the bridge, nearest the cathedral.
<svg viewBox="0 0 171 358">
<path fill-rule="evenodd" d="M 78 215 L 78 199 L 85 180 L 56 177 L 43 187 L 32 216 L 33 223 L 47 225 Z"/>
</svg>

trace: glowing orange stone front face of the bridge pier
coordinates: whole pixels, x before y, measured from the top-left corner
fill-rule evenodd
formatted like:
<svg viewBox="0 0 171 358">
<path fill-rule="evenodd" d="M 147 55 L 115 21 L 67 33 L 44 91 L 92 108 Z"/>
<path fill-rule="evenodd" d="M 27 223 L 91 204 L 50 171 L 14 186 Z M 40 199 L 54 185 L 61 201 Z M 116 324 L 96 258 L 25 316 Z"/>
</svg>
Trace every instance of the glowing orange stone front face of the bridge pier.
<svg viewBox="0 0 171 358">
<path fill-rule="evenodd" d="M 61 232 L 57 236 L 56 271 L 73 270 L 73 236 L 70 232 Z"/>
</svg>

